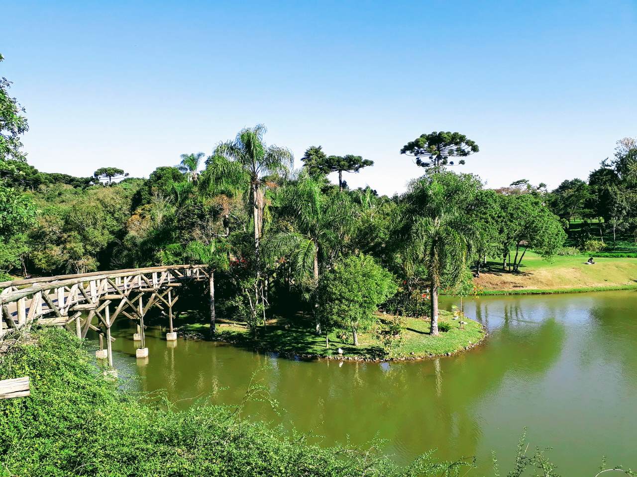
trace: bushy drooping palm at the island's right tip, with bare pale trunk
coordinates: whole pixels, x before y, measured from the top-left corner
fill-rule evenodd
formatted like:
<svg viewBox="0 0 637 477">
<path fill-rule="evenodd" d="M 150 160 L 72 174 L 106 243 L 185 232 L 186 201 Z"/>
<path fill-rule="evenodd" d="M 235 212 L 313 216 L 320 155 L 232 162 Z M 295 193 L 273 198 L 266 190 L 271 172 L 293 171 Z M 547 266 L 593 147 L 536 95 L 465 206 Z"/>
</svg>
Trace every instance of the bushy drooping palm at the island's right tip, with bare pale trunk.
<svg viewBox="0 0 637 477">
<path fill-rule="evenodd" d="M 403 196 L 406 262 L 422 262 L 429 277 L 431 335 L 438 335 L 438 289 L 455 286 L 473 251 L 475 233 L 466 219 L 478 183 L 473 176 L 434 172 L 417 179 Z"/>
</svg>

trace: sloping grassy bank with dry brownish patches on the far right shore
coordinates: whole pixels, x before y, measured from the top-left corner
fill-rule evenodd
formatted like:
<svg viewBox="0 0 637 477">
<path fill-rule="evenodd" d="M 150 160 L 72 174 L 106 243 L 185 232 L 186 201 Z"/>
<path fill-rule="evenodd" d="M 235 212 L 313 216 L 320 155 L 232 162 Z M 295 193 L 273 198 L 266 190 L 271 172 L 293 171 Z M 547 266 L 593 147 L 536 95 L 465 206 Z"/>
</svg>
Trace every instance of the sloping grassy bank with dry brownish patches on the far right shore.
<svg viewBox="0 0 637 477">
<path fill-rule="evenodd" d="M 490 263 L 490 270 L 474 279 L 484 294 L 575 293 L 637 289 L 637 259 L 595 257 L 595 265 L 585 265 L 590 255 L 557 256 L 547 261 L 533 252 L 524 256 L 520 273 L 503 272 Z"/>
</svg>

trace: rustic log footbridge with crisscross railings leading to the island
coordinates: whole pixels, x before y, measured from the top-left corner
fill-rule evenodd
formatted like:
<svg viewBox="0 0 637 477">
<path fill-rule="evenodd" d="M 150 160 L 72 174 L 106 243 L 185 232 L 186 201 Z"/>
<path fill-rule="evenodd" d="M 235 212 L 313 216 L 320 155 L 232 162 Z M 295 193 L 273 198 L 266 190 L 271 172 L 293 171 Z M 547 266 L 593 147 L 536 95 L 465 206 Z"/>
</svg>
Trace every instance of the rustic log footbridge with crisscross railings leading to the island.
<svg viewBox="0 0 637 477">
<path fill-rule="evenodd" d="M 85 338 L 92 329 L 99 336 L 96 356 L 108 359 L 112 366 L 111 343 L 115 338 L 111 336 L 111 326 L 123 316 L 137 323 L 136 355 L 146 357 L 144 316 L 148 310 L 167 310 L 166 339 L 176 340 L 173 305 L 179 298 L 178 287 L 206 277 L 204 265 L 173 265 L 0 282 L 0 336 L 9 328 L 31 326 L 34 322 L 65 326 L 78 338 Z"/>
</svg>

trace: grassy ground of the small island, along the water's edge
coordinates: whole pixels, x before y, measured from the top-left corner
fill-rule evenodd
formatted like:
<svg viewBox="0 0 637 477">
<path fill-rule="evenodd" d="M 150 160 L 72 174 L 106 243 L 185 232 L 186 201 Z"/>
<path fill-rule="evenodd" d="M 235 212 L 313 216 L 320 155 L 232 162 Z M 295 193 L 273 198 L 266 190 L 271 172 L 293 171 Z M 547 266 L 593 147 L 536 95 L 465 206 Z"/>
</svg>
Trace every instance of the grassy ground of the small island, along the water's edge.
<svg viewBox="0 0 637 477">
<path fill-rule="evenodd" d="M 385 315 L 387 318 L 387 315 Z M 286 355 L 341 357 L 338 349 L 343 350 L 346 359 L 419 359 L 430 356 L 454 354 L 468 349 L 482 341 L 485 333 L 476 321 L 468 320 L 461 329 L 459 320 L 452 319 L 450 312 L 440 312 L 440 336 L 429 335 L 430 323 L 424 319 L 406 318 L 402 339 L 397 347 L 389 353 L 383 350 L 374 329 L 359 333 L 359 345 L 352 345 L 352 335 L 341 335 L 335 331 L 329 333 L 329 348 L 326 347 L 325 335 L 312 333 L 310 323 L 270 322 L 266 328 L 259 328 L 257 340 L 247 326 L 238 322 L 221 322 L 218 326 L 220 340 L 234 343 L 241 347 L 281 352 Z M 189 324 L 181 331 L 197 331 L 208 335 L 208 324 Z"/>
</svg>

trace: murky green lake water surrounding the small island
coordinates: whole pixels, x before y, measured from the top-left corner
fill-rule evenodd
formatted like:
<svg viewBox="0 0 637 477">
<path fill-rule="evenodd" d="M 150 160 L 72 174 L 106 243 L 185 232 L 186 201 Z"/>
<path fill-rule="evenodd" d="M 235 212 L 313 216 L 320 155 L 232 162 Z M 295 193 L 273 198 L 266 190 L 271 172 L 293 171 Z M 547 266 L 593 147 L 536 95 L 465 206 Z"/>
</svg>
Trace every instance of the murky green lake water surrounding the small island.
<svg viewBox="0 0 637 477">
<path fill-rule="evenodd" d="M 528 427 L 531 449 L 552 446 L 562 474 L 592 476 L 603 455 L 637 467 L 637 292 L 484 297 L 464 306 L 490 336 L 455 357 L 294 361 L 224 343 L 168 343 L 165 329 L 149 328 L 150 356 L 137 360 L 122 320 L 115 366 L 120 377 L 140 377 L 132 387 L 164 390 L 182 408 L 208 396 L 237 404 L 256 371 L 280 410 L 254 403 L 252 418 L 312 432 L 324 445 L 386 439 L 384 451 L 400 463 L 438 448 L 445 459 L 476 456 L 482 475 L 494 450 L 506 472 Z"/>
</svg>

